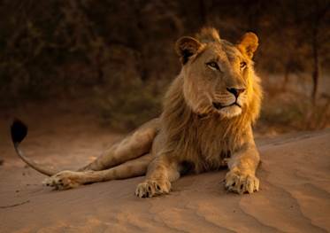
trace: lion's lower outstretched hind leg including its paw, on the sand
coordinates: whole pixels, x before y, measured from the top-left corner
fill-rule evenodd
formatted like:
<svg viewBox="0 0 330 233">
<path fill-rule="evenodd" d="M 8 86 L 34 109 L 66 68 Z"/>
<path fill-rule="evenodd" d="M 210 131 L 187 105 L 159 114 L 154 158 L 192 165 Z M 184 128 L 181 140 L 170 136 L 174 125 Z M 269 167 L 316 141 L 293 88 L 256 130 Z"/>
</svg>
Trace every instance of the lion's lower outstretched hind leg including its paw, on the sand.
<svg viewBox="0 0 330 233">
<path fill-rule="evenodd" d="M 117 167 L 102 171 L 63 171 L 46 178 L 43 184 L 54 187 L 57 190 L 66 190 L 76 188 L 81 184 L 106 182 L 145 175 L 151 159 L 150 154 L 145 154 L 138 159 L 132 159 Z"/>
</svg>

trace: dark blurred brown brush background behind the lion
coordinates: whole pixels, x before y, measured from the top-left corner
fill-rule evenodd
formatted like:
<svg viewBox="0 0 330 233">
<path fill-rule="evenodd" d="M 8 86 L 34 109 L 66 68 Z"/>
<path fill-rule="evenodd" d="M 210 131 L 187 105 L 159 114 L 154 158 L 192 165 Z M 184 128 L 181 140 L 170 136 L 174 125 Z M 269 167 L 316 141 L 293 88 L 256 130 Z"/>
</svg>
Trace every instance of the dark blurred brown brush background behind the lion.
<svg viewBox="0 0 330 233">
<path fill-rule="evenodd" d="M 135 128 L 159 115 L 180 72 L 175 41 L 213 26 L 232 43 L 246 31 L 259 37 L 257 134 L 330 125 L 330 1 L 2 0 L 0 15 L 5 119 L 70 112 Z"/>
</svg>

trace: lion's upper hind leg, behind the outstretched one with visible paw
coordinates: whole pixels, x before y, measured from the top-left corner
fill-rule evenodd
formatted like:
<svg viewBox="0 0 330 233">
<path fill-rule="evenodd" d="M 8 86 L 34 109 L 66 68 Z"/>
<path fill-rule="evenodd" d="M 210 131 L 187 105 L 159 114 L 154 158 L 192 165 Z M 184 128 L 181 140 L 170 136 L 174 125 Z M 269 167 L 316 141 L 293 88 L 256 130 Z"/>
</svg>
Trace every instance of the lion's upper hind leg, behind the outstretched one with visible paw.
<svg viewBox="0 0 330 233">
<path fill-rule="evenodd" d="M 127 136 L 118 144 L 104 152 L 98 159 L 78 171 L 100 171 L 122 164 L 130 159 L 135 159 L 142 154 L 149 153 L 153 139 L 157 135 L 158 119 L 150 120 L 132 135 Z"/>
</svg>

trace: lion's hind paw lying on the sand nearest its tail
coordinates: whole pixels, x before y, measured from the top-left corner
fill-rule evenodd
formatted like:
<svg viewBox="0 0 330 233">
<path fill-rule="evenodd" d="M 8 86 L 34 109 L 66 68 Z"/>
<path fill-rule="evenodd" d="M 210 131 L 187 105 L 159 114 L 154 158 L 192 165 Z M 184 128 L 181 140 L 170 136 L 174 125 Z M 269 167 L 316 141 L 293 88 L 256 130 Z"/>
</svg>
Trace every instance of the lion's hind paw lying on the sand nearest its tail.
<svg viewBox="0 0 330 233">
<path fill-rule="evenodd" d="M 42 183 L 54 187 L 57 190 L 72 189 L 81 185 L 79 181 L 79 173 L 72 171 L 59 172 L 56 175 L 46 178 Z"/>
</svg>

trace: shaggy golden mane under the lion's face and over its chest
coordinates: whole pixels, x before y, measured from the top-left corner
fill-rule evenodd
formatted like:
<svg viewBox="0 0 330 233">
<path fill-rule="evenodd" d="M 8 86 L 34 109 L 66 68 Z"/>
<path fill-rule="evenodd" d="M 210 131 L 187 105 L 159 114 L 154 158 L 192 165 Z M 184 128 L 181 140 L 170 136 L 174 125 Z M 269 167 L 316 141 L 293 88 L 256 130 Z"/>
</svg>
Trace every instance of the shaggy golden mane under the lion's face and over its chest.
<svg viewBox="0 0 330 233">
<path fill-rule="evenodd" d="M 242 146 L 242 138 L 249 133 L 249 128 L 259 115 L 262 99 L 259 78 L 253 69 L 249 71 L 248 105 L 242 114 L 227 119 L 216 113 L 207 116 L 194 113 L 186 104 L 182 93 L 182 75 L 179 74 L 174 80 L 164 99 L 161 121 L 167 137 L 165 148 L 171 148 L 169 150 L 178 156 L 184 154 L 182 160 L 194 161 L 196 172 L 225 166 L 224 157 L 229 157 Z M 201 160 L 197 154 L 201 151 L 207 151 L 205 160 Z M 214 156 L 219 154 L 221 156 Z M 196 162 L 198 159 L 200 161 Z"/>
</svg>

